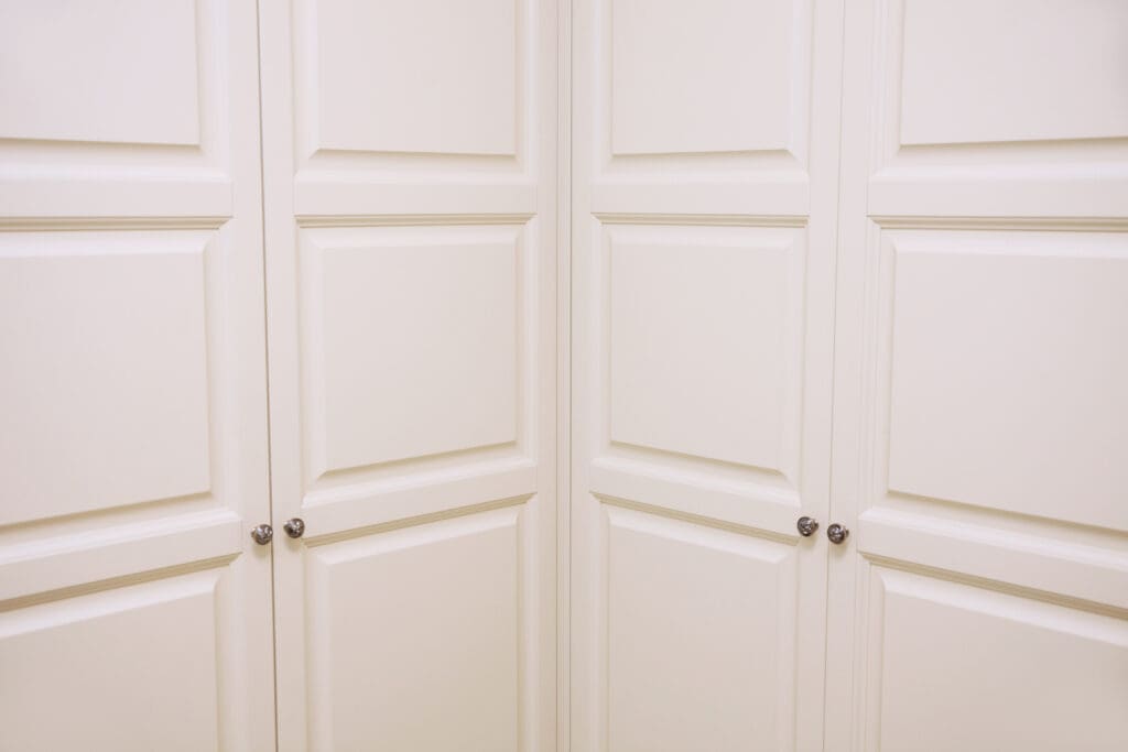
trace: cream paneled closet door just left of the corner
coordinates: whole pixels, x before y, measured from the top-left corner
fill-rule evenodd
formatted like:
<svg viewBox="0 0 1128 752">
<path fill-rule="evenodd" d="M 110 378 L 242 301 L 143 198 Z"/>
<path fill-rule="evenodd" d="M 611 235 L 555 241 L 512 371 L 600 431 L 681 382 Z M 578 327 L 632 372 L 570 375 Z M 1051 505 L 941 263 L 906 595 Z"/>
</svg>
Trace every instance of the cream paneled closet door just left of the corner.
<svg viewBox="0 0 1128 752">
<path fill-rule="evenodd" d="M 547 750 L 554 3 L 261 21 L 280 749 Z"/>
</svg>

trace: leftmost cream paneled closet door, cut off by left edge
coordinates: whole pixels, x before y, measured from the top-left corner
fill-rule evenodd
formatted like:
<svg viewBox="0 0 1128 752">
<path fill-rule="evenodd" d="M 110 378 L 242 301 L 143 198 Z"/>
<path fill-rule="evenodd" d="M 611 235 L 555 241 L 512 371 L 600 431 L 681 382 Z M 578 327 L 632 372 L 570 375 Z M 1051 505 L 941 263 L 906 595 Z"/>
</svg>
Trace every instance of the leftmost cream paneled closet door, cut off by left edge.
<svg viewBox="0 0 1128 752">
<path fill-rule="evenodd" d="M 0 2 L 0 750 L 274 749 L 255 3 Z"/>
</svg>

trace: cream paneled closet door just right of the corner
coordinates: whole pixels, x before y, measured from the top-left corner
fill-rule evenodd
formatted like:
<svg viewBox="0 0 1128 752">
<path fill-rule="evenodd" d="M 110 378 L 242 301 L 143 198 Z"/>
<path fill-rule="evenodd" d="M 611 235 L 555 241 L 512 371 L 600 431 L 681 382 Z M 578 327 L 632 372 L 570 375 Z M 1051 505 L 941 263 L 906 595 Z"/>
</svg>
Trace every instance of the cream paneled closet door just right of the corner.
<svg viewBox="0 0 1128 752">
<path fill-rule="evenodd" d="M 576 752 L 821 747 L 840 10 L 575 3 Z"/>
</svg>

